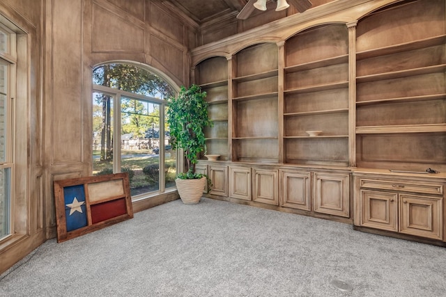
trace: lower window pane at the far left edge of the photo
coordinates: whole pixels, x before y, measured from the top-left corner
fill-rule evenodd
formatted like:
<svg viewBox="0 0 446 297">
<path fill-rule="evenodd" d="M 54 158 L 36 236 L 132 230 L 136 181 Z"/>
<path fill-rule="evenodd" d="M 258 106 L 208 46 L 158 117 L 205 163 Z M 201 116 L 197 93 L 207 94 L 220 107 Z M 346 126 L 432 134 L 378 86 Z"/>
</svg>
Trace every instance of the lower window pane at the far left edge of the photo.
<svg viewBox="0 0 446 297">
<path fill-rule="evenodd" d="M 10 234 L 10 168 L 0 170 L 0 239 Z"/>
</svg>

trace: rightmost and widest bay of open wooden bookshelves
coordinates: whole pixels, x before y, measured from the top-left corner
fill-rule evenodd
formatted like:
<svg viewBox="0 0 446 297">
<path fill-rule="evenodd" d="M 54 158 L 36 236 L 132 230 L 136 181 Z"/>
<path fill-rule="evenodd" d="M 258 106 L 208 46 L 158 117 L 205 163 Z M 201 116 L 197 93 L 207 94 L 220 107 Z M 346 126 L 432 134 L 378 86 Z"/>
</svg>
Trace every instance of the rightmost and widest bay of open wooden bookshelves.
<svg viewBox="0 0 446 297">
<path fill-rule="evenodd" d="M 356 34 L 357 166 L 443 170 L 445 1 L 374 13 Z"/>
</svg>

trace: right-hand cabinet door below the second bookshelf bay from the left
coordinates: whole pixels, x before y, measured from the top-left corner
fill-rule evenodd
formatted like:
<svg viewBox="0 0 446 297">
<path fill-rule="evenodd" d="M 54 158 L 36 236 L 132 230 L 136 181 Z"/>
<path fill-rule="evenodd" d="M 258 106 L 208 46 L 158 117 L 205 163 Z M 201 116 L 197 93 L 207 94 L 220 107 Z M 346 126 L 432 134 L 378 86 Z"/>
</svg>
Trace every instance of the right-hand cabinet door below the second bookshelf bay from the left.
<svg viewBox="0 0 446 297">
<path fill-rule="evenodd" d="M 279 205 L 278 170 L 253 168 L 252 175 L 252 200 Z"/>
</svg>

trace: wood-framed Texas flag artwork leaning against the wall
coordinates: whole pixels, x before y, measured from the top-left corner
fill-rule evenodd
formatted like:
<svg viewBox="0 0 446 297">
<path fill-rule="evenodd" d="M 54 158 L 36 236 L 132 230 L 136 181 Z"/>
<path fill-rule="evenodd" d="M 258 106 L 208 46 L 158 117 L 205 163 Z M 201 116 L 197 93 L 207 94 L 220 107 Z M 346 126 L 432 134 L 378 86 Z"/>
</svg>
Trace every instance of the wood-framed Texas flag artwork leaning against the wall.
<svg viewBox="0 0 446 297">
<path fill-rule="evenodd" d="M 54 181 L 57 242 L 133 218 L 128 173 Z"/>
</svg>

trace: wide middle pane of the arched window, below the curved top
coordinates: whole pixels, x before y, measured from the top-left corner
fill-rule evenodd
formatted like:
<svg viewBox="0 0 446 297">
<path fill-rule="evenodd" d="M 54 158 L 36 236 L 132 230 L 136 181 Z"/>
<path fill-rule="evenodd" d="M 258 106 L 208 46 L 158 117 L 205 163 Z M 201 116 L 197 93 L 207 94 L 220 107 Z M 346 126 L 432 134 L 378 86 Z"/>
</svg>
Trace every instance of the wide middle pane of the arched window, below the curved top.
<svg viewBox="0 0 446 297">
<path fill-rule="evenodd" d="M 121 97 L 121 171 L 129 172 L 132 195 L 160 189 L 160 106 Z"/>
</svg>

